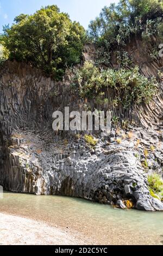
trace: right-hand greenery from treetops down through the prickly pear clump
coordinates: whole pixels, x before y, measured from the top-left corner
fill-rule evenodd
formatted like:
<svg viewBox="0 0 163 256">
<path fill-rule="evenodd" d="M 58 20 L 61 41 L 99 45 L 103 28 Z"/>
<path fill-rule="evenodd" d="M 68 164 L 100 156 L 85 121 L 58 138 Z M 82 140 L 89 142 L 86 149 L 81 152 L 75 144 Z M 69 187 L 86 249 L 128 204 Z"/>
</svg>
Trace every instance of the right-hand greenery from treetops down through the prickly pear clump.
<svg viewBox="0 0 163 256">
<path fill-rule="evenodd" d="M 110 7 L 104 7 L 99 17 L 89 26 L 90 40 L 97 49 L 95 64 L 86 62 L 76 70 L 72 84 L 78 86 L 82 98 L 101 98 L 106 92 L 112 106 L 129 108 L 133 104 L 149 103 L 156 94 L 158 83 L 155 77 L 140 75 L 139 67 L 133 68 L 131 56 L 127 52 L 127 42 L 133 36 L 147 45 L 149 57 L 158 58 L 158 43 L 163 40 L 163 3 L 159 0 L 120 0 Z M 152 47 L 150 49 L 150 47 Z M 117 59 L 117 69 L 110 68 L 112 54 Z"/>
</svg>

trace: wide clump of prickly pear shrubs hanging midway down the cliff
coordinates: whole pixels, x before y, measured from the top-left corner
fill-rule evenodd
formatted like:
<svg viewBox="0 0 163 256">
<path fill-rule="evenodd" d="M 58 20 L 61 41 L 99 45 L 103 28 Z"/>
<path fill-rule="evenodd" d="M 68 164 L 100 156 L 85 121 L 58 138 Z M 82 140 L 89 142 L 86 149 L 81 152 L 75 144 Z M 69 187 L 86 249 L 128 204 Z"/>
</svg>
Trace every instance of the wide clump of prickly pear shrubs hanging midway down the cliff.
<svg viewBox="0 0 163 256">
<path fill-rule="evenodd" d="M 106 89 L 114 90 L 117 105 L 124 108 L 131 104 L 149 102 L 156 94 L 158 83 L 156 78 L 150 80 L 139 74 L 139 68 L 100 70 L 92 62 L 85 62 L 84 66 L 76 70 L 73 83 L 78 84 L 81 97 L 97 97 Z"/>
</svg>

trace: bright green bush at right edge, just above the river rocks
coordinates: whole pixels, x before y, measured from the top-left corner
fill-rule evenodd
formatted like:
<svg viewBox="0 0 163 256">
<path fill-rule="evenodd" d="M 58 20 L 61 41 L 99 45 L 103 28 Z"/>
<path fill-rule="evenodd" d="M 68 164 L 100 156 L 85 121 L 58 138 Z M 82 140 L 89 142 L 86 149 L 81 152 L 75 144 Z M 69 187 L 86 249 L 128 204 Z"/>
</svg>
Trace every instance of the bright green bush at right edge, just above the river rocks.
<svg viewBox="0 0 163 256">
<path fill-rule="evenodd" d="M 163 198 L 163 179 L 159 174 L 148 175 L 149 192 L 151 196 Z"/>
</svg>

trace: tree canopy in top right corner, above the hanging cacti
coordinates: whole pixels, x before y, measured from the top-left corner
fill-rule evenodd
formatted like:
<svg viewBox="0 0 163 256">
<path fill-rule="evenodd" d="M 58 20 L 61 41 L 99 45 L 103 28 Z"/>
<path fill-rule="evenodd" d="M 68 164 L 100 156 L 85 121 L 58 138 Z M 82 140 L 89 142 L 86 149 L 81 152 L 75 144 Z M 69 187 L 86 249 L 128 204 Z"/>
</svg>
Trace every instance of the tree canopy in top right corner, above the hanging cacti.
<svg viewBox="0 0 163 256">
<path fill-rule="evenodd" d="M 143 29 L 149 20 L 163 17 L 162 0 L 120 0 L 116 4 L 104 7 L 95 21 L 89 25 L 89 34 L 93 40 L 111 39 L 130 28 Z"/>
</svg>

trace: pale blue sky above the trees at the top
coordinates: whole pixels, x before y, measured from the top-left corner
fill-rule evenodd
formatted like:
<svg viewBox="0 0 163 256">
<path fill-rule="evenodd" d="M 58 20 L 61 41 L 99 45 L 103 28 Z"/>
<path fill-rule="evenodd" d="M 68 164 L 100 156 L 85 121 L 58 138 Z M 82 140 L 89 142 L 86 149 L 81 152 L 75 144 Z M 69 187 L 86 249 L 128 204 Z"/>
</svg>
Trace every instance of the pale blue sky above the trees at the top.
<svg viewBox="0 0 163 256">
<path fill-rule="evenodd" d="M 3 25 L 12 24 L 21 14 L 33 14 L 41 6 L 57 4 L 61 11 L 68 13 L 71 20 L 79 21 L 85 28 L 95 19 L 105 5 L 118 0 L 0 0 L 0 32 Z"/>
</svg>

